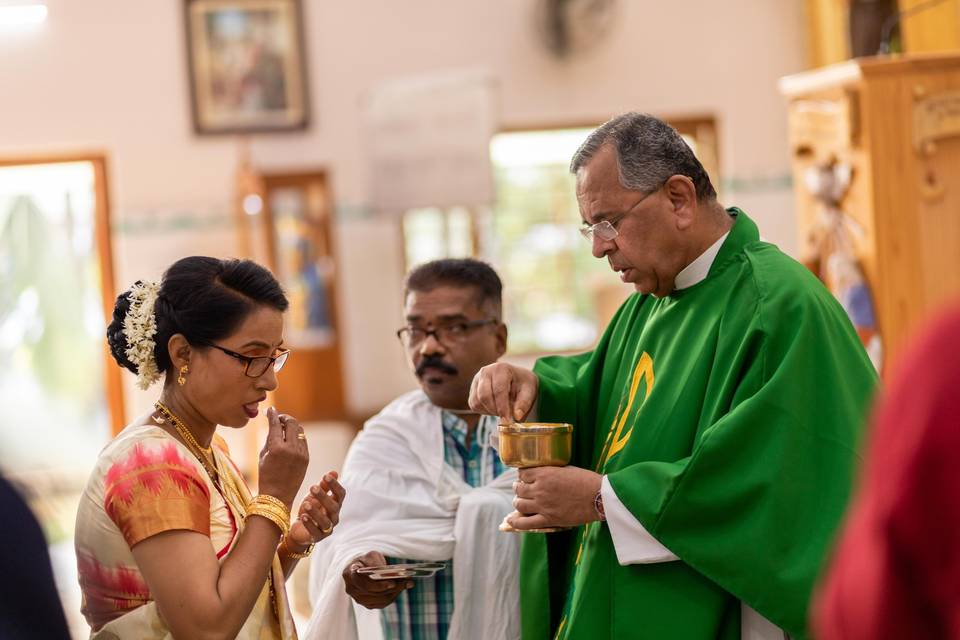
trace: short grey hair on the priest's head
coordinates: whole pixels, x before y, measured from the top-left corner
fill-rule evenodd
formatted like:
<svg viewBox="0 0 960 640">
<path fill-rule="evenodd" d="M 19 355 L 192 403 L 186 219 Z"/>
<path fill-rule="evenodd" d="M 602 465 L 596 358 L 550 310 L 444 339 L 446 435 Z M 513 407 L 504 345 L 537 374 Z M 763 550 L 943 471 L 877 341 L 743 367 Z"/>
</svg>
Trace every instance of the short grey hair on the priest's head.
<svg viewBox="0 0 960 640">
<path fill-rule="evenodd" d="M 576 174 L 606 144 L 617 152 L 620 184 L 645 193 L 656 191 L 674 175 L 687 176 L 702 202 L 716 200 L 717 191 L 693 150 L 677 130 L 646 113 L 625 113 L 597 127 L 573 154 L 570 173 Z"/>
</svg>

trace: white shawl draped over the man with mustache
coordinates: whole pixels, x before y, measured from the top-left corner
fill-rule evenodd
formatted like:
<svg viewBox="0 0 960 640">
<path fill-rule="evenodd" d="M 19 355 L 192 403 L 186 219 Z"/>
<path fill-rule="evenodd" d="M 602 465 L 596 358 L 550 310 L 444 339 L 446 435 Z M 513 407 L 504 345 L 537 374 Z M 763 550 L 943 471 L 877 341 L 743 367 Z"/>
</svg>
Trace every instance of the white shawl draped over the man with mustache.
<svg viewBox="0 0 960 640">
<path fill-rule="evenodd" d="M 382 637 L 380 612 L 355 604 L 341 577 L 368 551 L 453 559 L 449 638 L 520 637 L 519 538 L 497 529 L 513 510 L 516 471 L 477 488 L 465 483 L 444 462 L 440 411 L 422 391 L 412 391 L 368 420 L 351 445 L 340 524 L 317 545 L 310 564 L 313 615 L 305 640 Z M 480 444 L 486 469 L 487 456 L 497 454 Z"/>
</svg>

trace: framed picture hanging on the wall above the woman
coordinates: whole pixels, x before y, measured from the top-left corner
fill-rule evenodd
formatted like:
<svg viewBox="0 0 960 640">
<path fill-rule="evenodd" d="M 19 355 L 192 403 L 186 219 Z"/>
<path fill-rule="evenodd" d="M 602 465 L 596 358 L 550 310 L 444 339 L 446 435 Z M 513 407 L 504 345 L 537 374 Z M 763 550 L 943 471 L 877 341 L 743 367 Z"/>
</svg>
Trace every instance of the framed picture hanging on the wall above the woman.
<svg viewBox="0 0 960 640">
<path fill-rule="evenodd" d="M 184 0 L 184 9 L 197 133 L 307 126 L 300 0 Z"/>
</svg>

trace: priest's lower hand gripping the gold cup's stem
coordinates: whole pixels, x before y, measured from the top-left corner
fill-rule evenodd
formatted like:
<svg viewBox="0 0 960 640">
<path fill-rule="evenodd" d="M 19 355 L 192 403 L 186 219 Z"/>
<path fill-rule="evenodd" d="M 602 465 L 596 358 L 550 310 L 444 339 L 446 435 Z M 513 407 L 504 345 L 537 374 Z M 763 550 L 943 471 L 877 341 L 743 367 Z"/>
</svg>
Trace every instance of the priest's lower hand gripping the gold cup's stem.
<svg viewBox="0 0 960 640">
<path fill-rule="evenodd" d="M 513 483 L 515 512 L 507 516 L 514 529 L 572 527 L 600 516 L 594 499 L 603 476 L 579 467 L 534 467 L 520 469 Z"/>
</svg>

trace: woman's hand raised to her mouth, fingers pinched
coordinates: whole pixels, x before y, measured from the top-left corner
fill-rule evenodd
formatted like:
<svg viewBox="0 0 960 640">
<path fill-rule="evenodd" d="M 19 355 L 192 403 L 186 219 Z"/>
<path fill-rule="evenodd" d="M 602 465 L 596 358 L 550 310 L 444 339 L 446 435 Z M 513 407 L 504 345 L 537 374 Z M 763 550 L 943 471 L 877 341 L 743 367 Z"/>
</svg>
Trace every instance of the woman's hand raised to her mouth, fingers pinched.
<svg viewBox="0 0 960 640">
<path fill-rule="evenodd" d="M 267 409 L 270 430 L 260 451 L 260 493 L 279 499 L 289 508 L 303 484 L 310 454 L 303 427 L 291 416 Z"/>
</svg>

